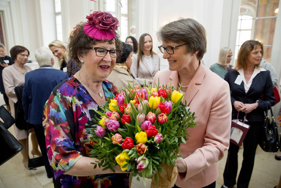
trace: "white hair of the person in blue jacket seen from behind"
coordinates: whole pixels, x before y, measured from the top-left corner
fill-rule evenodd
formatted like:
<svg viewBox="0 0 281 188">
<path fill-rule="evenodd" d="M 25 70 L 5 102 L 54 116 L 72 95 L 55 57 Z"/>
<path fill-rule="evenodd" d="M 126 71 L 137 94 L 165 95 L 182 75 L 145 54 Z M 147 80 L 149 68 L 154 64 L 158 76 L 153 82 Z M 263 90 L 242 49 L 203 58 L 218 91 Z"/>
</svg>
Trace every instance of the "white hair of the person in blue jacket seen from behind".
<svg viewBox="0 0 281 188">
<path fill-rule="evenodd" d="M 52 51 L 50 51 L 50 49 L 46 47 L 41 47 L 35 51 L 35 58 L 36 61 L 38 62 L 39 67 L 51 66 L 52 65 L 51 59 L 53 58 L 53 53 Z"/>
</svg>

